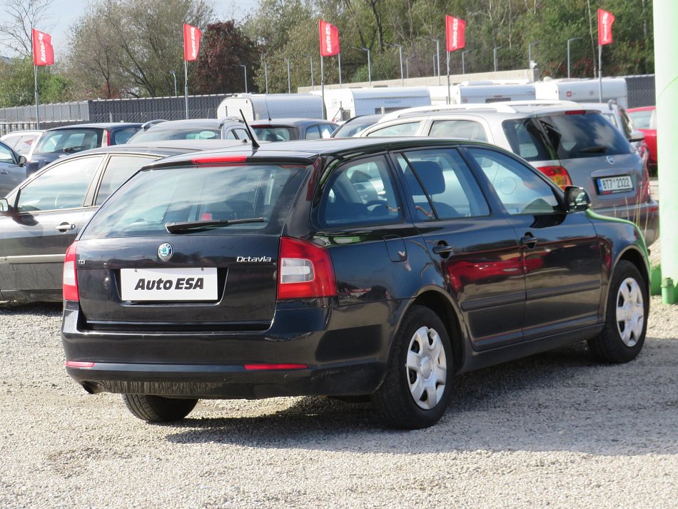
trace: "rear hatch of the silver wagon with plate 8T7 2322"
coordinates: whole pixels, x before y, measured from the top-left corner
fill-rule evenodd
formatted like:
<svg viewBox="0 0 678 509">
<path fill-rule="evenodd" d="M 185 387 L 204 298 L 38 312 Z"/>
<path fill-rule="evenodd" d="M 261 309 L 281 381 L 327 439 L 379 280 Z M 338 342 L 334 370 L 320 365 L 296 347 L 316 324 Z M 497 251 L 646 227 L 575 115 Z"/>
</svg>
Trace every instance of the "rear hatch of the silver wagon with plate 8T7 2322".
<svg viewBox="0 0 678 509">
<path fill-rule="evenodd" d="M 642 159 L 599 113 L 564 111 L 507 120 L 502 126 L 512 151 L 542 171 L 565 168 L 572 184 L 589 193 L 593 208 L 627 207 L 649 199 Z"/>
</svg>

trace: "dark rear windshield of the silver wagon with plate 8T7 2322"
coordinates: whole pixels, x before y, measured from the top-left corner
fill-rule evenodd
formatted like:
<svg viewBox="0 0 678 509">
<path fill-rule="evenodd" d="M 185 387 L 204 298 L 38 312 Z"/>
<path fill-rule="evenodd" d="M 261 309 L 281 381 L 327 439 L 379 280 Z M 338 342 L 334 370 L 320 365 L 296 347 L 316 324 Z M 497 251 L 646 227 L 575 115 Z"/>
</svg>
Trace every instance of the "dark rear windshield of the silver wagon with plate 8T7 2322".
<svg viewBox="0 0 678 509">
<path fill-rule="evenodd" d="M 600 114 L 543 116 L 539 121 L 561 160 L 632 151 L 622 133 Z"/>
</svg>

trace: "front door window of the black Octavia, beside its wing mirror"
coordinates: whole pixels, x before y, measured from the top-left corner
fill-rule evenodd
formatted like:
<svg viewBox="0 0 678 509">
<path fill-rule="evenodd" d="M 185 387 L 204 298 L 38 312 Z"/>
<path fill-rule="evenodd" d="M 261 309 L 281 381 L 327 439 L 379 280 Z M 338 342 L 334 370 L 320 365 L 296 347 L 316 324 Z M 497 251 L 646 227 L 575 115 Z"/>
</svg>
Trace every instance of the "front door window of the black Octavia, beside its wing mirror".
<svg viewBox="0 0 678 509">
<path fill-rule="evenodd" d="M 534 171 L 503 153 L 485 148 L 469 148 L 507 212 L 546 214 L 560 212 L 552 187 Z"/>
</svg>

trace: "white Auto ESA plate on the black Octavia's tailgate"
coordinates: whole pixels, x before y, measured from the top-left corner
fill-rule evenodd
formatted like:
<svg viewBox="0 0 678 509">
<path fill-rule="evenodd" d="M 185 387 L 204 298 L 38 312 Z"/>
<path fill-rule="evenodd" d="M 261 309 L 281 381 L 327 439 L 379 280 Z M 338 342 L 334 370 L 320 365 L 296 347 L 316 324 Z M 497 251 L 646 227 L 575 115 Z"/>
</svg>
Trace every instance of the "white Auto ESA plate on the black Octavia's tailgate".
<svg viewBox="0 0 678 509">
<path fill-rule="evenodd" d="M 123 301 L 216 301 L 216 268 L 121 268 Z"/>
</svg>

